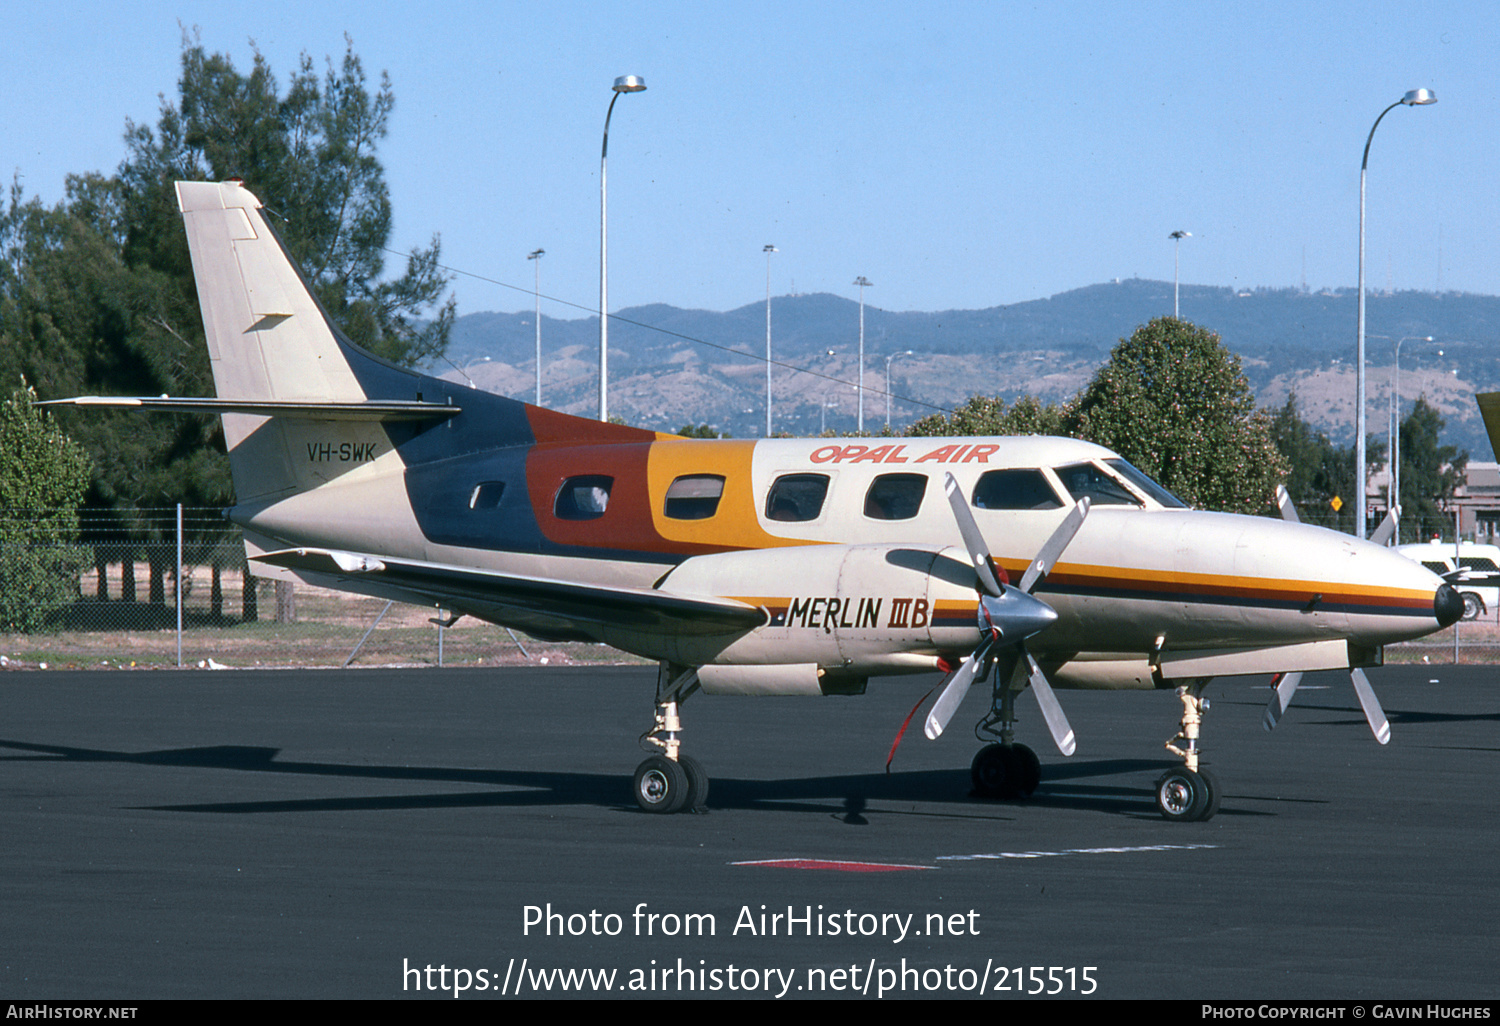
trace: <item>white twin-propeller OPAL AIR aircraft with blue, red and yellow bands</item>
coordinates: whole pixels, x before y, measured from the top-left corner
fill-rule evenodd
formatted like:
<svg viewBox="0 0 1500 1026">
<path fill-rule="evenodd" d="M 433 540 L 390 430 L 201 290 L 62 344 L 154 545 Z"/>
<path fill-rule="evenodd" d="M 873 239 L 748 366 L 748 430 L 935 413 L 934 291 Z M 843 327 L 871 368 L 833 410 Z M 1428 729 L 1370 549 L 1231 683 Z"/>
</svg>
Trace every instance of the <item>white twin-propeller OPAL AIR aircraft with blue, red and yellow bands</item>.
<svg viewBox="0 0 1500 1026">
<path fill-rule="evenodd" d="M 684 752 L 692 693 L 860 694 L 948 674 L 936 738 L 990 681 L 978 794 L 1040 778 L 1012 736 L 1029 686 L 1074 750 L 1053 687 L 1176 688 L 1167 819 L 1220 804 L 1200 766 L 1214 676 L 1360 668 L 1458 620 L 1431 572 L 1316 526 L 1186 508 L 1118 454 L 1066 438 L 694 441 L 552 412 L 412 374 L 328 321 L 238 182 L 178 183 L 216 399 L 74 399 L 224 416 L 261 576 L 436 604 L 544 639 L 657 660 L 648 812 L 704 804 Z"/>
</svg>

